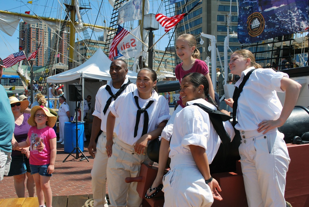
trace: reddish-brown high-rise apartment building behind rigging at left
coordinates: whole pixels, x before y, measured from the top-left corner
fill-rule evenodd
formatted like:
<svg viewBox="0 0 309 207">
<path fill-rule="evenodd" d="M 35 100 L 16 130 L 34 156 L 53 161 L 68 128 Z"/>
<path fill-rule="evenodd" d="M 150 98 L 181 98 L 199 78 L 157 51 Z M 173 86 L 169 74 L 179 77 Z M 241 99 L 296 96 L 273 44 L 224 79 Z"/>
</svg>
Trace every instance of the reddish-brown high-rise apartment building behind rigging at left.
<svg viewBox="0 0 309 207">
<path fill-rule="evenodd" d="M 36 24 L 20 22 L 19 31 L 19 38 L 23 39 L 19 40 L 19 45 L 23 47 L 23 50 L 27 56 L 36 51 L 41 43 L 39 52 L 33 63 L 34 65 L 46 65 L 55 41 L 59 42 L 59 56 L 57 57 L 57 63 L 68 65 L 70 33 L 65 31 L 63 32 L 62 37 L 58 38 L 58 35 L 54 32 L 54 30 L 49 28 L 49 26 L 43 22 Z"/>
</svg>

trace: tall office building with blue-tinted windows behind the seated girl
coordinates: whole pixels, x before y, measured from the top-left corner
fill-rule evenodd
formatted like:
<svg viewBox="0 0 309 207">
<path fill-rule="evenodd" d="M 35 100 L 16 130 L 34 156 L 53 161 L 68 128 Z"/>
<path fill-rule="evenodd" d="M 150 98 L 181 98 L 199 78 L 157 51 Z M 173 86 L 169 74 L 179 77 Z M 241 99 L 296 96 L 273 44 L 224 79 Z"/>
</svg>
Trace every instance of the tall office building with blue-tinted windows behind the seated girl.
<svg viewBox="0 0 309 207">
<path fill-rule="evenodd" d="M 195 6 L 199 0 L 185 1 L 176 3 L 176 14 L 185 13 L 193 6 Z M 193 9 L 183 21 L 181 21 L 176 28 L 176 37 L 181 34 L 190 33 L 194 35 L 197 39 L 197 48 L 201 52 L 201 59 L 205 60 L 207 56 L 211 57 L 211 52 L 208 51 L 208 46 L 210 45 L 210 40 L 203 38 L 204 44 L 199 44 L 200 36 L 199 34 L 203 32 L 204 34 L 214 35 L 217 40 L 217 47 L 221 59 L 223 61 L 223 45 L 224 38 L 227 35 L 227 18 L 231 9 L 231 25 L 230 34 L 237 32 L 237 4 L 236 0 L 203 0 L 196 8 Z M 186 6 L 186 9 L 185 9 Z M 182 12 L 183 11 L 183 12 Z M 240 47 L 237 38 L 231 38 L 229 47 L 232 50 Z M 218 61 L 218 58 L 217 58 Z M 180 62 L 180 60 L 178 60 Z M 177 63 L 177 60 L 176 60 Z M 220 67 L 217 62 L 217 66 Z"/>
</svg>

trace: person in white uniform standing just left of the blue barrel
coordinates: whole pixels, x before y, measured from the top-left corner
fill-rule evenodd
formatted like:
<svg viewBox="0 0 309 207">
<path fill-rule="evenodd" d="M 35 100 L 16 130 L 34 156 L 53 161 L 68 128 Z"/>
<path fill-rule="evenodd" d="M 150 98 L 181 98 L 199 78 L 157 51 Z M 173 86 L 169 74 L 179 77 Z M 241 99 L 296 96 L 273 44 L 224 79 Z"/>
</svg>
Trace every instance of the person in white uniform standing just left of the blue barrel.
<svg viewBox="0 0 309 207">
<path fill-rule="evenodd" d="M 64 123 L 70 121 L 70 107 L 66 103 L 66 98 L 64 96 L 59 97 L 59 102 L 61 103 L 61 106 L 58 110 L 60 139 L 57 142 L 64 144 Z"/>
</svg>

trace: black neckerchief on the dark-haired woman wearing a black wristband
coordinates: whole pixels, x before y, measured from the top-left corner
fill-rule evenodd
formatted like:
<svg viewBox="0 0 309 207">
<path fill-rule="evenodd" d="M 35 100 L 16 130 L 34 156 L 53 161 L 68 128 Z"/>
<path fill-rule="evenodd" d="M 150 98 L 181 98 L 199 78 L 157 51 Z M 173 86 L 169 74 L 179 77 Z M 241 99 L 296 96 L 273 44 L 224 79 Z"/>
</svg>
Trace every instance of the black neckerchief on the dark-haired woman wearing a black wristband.
<svg viewBox="0 0 309 207">
<path fill-rule="evenodd" d="M 213 124 L 214 129 L 216 130 L 217 134 L 219 135 L 222 141 L 222 144 L 230 143 L 231 137 L 226 132 L 223 126 L 223 122 L 230 120 L 232 117 L 222 113 L 221 111 L 212 110 L 203 104 L 194 103 L 193 105 L 200 107 L 202 110 L 208 113 L 209 119 L 211 123 Z"/>
</svg>

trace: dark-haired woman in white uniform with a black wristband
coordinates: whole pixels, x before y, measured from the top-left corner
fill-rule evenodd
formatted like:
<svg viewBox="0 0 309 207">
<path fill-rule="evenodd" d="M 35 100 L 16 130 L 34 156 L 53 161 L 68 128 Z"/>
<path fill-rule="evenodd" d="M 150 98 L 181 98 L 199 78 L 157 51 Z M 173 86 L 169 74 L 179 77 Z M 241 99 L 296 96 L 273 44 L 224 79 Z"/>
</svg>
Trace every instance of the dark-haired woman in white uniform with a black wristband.
<svg viewBox="0 0 309 207">
<path fill-rule="evenodd" d="M 171 157 L 171 170 L 163 177 L 164 206 L 211 206 L 214 198 L 222 200 L 216 188 L 221 191 L 218 182 L 212 179 L 209 164 L 213 161 L 221 140 L 210 122 L 209 115 L 200 107 L 200 103 L 217 110 L 208 94 L 208 81 L 200 73 L 189 73 L 181 81 L 180 96 L 187 105 L 176 114 L 170 151 L 160 148 L 159 170 L 155 182 L 162 183 L 167 155 Z M 193 116 L 194 114 L 194 116 Z M 231 123 L 223 123 L 226 132 L 233 139 L 235 133 Z M 168 154 L 169 153 L 169 154 Z M 162 162 L 161 162 L 162 161 Z M 163 167 L 162 167 L 163 166 Z M 154 182 L 153 185 L 158 185 Z M 147 195 L 154 193 L 151 189 Z"/>
</svg>

